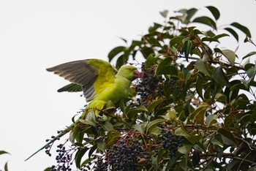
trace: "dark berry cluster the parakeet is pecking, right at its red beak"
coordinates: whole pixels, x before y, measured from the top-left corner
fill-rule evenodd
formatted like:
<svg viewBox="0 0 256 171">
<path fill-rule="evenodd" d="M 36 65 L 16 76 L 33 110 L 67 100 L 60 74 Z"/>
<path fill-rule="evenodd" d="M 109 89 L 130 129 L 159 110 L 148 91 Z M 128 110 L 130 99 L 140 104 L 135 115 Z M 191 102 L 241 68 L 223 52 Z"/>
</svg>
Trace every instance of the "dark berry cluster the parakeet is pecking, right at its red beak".
<svg viewBox="0 0 256 171">
<path fill-rule="evenodd" d="M 163 78 L 161 76 L 154 75 L 155 66 L 151 66 L 146 69 L 145 63 L 141 64 L 141 77 L 136 87 L 136 91 L 140 96 L 138 103 L 142 103 L 145 106 L 155 99 L 157 91 L 159 91 L 159 84 L 162 83 Z"/>
</svg>

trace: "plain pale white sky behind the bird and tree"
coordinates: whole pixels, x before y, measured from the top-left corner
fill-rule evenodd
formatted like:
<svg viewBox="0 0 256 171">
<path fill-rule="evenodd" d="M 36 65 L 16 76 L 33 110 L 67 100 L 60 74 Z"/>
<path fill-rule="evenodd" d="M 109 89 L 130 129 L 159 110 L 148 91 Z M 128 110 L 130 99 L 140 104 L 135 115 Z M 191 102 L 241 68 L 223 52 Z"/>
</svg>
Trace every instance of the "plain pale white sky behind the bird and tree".
<svg viewBox="0 0 256 171">
<path fill-rule="evenodd" d="M 10 171 L 56 164 L 44 151 L 24 159 L 68 126 L 85 104 L 80 94 L 57 93 L 68 82 L 45 68 L 85 58 L 107 60 L 113 47 L 124 45 L 118 37 L 136 39 L 153 22 L 161 23 L 160 11 L 196 7 L 203 15 L 208 5 L 220 10 L 219 25 L 237 21 L 252 31 L 252 39 L 256 36 L 254 0 L 0 1 L 0 151 L 11 153 L 0 155 L 0 170 L 6 161 Z M 256 51 L 242 39 L 238 55 Z M 235 50 L 237 45 L 230 38 L 224 46 Z"/>
</svg>

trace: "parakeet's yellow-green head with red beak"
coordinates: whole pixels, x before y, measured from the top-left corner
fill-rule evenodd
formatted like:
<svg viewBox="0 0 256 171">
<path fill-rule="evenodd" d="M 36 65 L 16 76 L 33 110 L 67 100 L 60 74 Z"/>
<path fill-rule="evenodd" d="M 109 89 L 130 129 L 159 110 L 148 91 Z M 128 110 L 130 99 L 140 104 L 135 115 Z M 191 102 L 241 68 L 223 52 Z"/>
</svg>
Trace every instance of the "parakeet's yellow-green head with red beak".
<svg viewBox="0 0 256 171">
<path fill-rule="evenodd" d="M 140 77 L 140 72 L 135 66 L 126 65 L 122 66 L 116 76 L 121 76 L 127 78 L 127 80 L 135 80 L 135 78 Z"/>
</svg>

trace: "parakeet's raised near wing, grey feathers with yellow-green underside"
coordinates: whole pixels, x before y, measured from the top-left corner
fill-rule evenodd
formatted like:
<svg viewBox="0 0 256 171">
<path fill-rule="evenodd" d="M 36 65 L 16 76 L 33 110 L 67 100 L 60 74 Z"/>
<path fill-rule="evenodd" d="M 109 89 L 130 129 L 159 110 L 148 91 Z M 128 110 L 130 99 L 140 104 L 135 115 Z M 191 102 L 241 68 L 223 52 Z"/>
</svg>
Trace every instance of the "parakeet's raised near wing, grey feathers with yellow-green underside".
<svg viewBox="0 0 256 171">
<path fill-rule="evenodd" d="M 87 102 L 105 88 L 112 86 L 115 80 L 113 67 L 107 61 L 100 59 L 72 61 L 46 70 L 82 86 Z"/>
</svg>

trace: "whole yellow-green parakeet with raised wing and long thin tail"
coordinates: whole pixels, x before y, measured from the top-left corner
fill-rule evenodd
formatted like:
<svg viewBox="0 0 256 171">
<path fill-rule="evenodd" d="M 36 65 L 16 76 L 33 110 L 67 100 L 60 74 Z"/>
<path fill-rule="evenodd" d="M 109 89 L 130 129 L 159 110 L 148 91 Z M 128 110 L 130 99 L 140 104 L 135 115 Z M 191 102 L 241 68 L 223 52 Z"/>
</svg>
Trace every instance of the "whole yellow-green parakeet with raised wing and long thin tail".
<svg viewBox="0 0 256 171">
<path fill-rule="evenodd" d="M 75 89 L 78 91 L 80 89 L 83 90 L 86 101 L 90 103 L 86 106 L 80 118 L 84 118 L 89 111 L 94 111 L 95 115 L 99 115 L 99 111 L 102 110 L 108 102 L 118 104 L 121 99 L 128 97 L 132 80 L 136 77 L 140 77 L 140 72 L 137 68 L 129 65 L 122 66 L 115 75 L 111 64 L 100 59 L 71 61 L 53 66 L 46 70 L 54 72 L 54 74 L 72 82 L 72 84 L 68 86 L 75 86 Z M 69 132 L 76 123 L 79 123 L 80 118 L 56 137 L 59 138 Z M 34 156 L 52 142 L 53 140 L 50 140 L 31 156 Z M 30 159 L 31 156 L 29 156 L 28 159 Z"/>
</svg>

